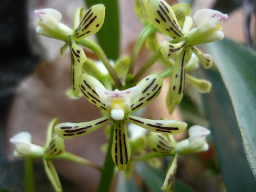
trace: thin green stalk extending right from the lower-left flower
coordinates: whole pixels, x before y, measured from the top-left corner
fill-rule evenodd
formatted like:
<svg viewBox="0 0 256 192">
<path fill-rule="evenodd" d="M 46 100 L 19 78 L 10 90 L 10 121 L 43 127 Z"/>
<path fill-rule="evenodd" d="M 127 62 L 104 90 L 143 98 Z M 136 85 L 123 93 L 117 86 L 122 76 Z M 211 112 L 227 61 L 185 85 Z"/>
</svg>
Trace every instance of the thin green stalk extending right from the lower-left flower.
<svg viewBox="0 0 256 192">
<path fill-rule="evenodd" d="M 84 159 L 83 157 L 76 156 L 76 155 L 74 155 L 74 154 L 72 154 L 70 152 L 67 152 L 67 151 L 65 151 L 60 156 L 56 156 L 56 157 L 52 157 L 52 158 L 55 158 L 55 159 L 67 159 L 67 160 L 73 161 L 75 163 L 84 164 L 84 165 L 87 165 L 87 166 L 92 166 L 93 168 L 96 168 L 100 172 L 102 171 L 102 167 L 101 166 L 99 166 L 97 164 L 94 164 L 91 161 L 89 161 L 87 159 Z"/>
</svg>

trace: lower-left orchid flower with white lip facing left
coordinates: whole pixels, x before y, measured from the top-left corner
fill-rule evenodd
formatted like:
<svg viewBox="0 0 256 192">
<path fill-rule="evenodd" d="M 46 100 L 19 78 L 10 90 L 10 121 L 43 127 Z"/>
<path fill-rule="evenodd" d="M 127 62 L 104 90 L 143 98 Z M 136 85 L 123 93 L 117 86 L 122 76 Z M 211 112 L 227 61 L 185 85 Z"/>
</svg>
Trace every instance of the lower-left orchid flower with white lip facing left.
<svg viewBox="0 0 256 192">
<path fill-rule="evenodd" d="M 58 119 L 53 118 L 47 128 L 47 138 L 44 147 L 32 144 L 29 132 L 20 132 L 13 136 L 10 141 L 15 144 L 15 156 L 42 158 L 45 172 L 55 191 L 62 191 L 58 173 L 51 161 L 52 158 L 61 156 L 65 152 L 64 140 L 53 132 L 53 127 L 56 124 L 58 124 Z"/>
</svg>

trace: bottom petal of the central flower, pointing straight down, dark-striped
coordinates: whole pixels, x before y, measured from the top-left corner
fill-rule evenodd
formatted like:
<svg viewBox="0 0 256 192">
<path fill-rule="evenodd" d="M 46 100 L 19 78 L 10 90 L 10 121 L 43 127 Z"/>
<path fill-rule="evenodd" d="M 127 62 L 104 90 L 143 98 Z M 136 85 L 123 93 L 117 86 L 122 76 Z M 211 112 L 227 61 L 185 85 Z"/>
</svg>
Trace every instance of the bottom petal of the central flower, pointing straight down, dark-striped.
<svg viewBox="0 0 256 192">
<path fill-rule="evenodd" d="M 131 156 L 129 140 L 126 131 L 126 122 L 114 122 L 114 136 L 112 143 L 112 158 L 118 170 L 125 170 Z"/>
</svg>

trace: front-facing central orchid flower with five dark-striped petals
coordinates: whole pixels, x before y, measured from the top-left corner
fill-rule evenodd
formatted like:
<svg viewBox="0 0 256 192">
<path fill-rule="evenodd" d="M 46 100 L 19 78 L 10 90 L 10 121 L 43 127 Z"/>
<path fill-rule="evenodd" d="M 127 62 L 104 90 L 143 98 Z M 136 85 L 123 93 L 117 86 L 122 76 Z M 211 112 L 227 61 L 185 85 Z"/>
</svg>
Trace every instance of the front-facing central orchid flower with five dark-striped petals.
<svg viewBox="0 0 256 192">
<path fill-rule="evenodd" d="M 184 122 L 148 120 L 131 115 L 156 99 L 161 92 L 163 79 L 157 74 L 147 76 L 136 86 L 122 91 L 108 91 L 97 79 L 86 74 L 82 74 L 79 78 L 79 85 L 84 97 L 106 115 L 90 122 L 58 124 L 55 126 L 55 131 L 61 138 L 74 138 L 89 134 L 108 122 L 113 122 L 112 157 L 118 170 L 125 170 L 131 156 L 126 131 L 127 121 L 150 131 L 168 134 L 179 134 L 186 128 L 187 124 Z"/>
</svg>

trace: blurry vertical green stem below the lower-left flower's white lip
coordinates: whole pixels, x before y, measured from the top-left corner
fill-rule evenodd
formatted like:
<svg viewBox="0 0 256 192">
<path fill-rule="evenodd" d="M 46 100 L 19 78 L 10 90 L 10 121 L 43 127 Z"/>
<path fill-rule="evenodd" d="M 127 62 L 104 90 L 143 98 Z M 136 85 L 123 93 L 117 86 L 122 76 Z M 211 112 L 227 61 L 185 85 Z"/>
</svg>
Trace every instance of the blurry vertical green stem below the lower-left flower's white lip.
<svg viewBox="0 0 256 192">
<path fill-rule="evenodd" d="M 33 192 L 35 190 L 33 159 L 27 157 L 25 159 L 25 191 Z"/>
</svg>

